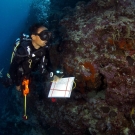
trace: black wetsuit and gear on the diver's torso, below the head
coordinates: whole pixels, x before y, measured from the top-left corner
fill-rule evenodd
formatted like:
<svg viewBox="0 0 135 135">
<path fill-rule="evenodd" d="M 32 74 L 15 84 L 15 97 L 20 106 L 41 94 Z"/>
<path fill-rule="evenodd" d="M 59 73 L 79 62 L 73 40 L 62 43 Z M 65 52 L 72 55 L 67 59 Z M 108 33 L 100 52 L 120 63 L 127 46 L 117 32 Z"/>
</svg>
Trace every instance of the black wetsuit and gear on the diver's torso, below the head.
<svg viewBox="0 0 135 135">
<path fill-rule="evenodd" d="M 43 61 L 43 57 L 45 57 L 45 61 Z M 38 67 L 42 70 L 41 72 L 45 68 L 48 72 L 52 72 L 48 48 L 35 49 L 31 40 L 21 42 L 9 68 L 12 83 L 19 86 L 23 77 L 29 77 L 31 72 L 36 71 Z"/>
</svg>

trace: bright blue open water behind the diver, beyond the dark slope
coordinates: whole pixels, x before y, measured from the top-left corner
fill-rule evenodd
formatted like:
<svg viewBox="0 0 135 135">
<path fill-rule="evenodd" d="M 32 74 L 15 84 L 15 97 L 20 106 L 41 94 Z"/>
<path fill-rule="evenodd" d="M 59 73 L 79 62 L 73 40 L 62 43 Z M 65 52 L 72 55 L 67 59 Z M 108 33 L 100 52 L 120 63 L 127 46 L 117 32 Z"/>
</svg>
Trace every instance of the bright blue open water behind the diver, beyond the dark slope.
<svg viewBox="0 0 135 135">
<path fill-rule="evenodd" d="M 14 41 L 27 27 L 31 2 L 32 0 L 0 2 L 0 69 L 8 69 Z"/>
</svg>

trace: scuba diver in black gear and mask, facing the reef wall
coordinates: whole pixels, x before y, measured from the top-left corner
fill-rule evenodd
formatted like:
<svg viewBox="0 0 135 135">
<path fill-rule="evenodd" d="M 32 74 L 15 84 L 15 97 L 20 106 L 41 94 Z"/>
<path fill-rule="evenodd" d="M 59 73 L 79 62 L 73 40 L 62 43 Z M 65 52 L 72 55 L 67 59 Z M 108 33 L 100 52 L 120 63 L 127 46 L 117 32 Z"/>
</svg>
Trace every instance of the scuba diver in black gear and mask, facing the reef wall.
<svg viewBox="0 0 135 135">
<path fill-rule="evenodd" d="M 21 84 L 24 78 L 30 78 L 33 71 L 39 69 L 41 73 L 46 70 L 50 77 L 55 77 L 49 57 L 49 40 L 51 32 L 42 24 L 34 24 L 30 27 L 30 37 L 23 37 L 16 41 L 16 46 L 11 57 L 8 81 L 0 81 L 7 87 L 15 84 L 16 89 L 21 91 Z"/>
</svg>

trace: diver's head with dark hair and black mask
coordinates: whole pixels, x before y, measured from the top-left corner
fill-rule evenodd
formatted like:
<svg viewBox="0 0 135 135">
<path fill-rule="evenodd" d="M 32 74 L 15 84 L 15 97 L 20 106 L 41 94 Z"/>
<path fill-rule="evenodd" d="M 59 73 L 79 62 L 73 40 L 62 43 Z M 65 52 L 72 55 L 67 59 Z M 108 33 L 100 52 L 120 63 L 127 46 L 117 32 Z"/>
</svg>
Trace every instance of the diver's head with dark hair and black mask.
<svg viewBox="0 0 135 135">
<path fill-rule="evenodd" d="M 48 28 L 43 24 L 34 24 L 30 28 L 30 34 L 32 44 L 36 49 L 46 46 L 51 37 L 51 32 L 49 32 Z"/>
</svg>

